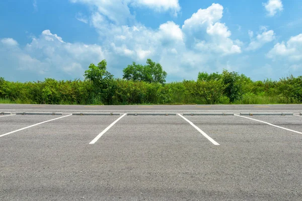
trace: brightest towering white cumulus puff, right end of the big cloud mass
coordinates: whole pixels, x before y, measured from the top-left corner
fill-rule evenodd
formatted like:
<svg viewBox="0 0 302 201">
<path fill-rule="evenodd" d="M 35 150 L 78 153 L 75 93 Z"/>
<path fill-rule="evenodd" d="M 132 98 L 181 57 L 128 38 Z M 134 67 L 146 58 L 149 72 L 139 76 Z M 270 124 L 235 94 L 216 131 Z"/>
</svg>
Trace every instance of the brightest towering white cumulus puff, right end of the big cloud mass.
<svg viewBox="0 0 302 201">
<path fill-rule="evenodd" d="M 240 43 L 235 44 L 230 39 L 232 33 L 229 28 L 219 22 L 222 14 L 223 7 L 212 4 L 207 9 L 199 9 L 187 19 L 182 26 L 187 45 L 190 44 L 199 51 L 212 51 L 223 55 L 241 53 Z"/>
</svg>

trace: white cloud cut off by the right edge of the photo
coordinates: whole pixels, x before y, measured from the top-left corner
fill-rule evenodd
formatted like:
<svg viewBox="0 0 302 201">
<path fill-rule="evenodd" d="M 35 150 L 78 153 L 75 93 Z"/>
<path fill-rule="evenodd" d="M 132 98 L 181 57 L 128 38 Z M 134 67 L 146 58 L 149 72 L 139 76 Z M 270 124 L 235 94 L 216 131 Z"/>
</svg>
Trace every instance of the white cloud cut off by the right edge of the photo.
<svg viewBox="0 0 302 201">
<path fill-rule="evenodd" d="M 291 37 L 286 43 L 277 43 L 267 54 L 268 58 L 286 59 L 290 62 L 302 60 L 302 34 Z"/>
</svg>

